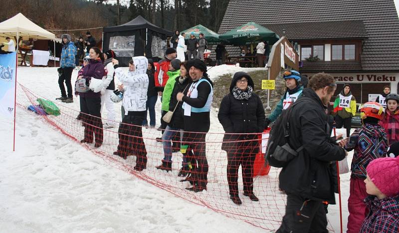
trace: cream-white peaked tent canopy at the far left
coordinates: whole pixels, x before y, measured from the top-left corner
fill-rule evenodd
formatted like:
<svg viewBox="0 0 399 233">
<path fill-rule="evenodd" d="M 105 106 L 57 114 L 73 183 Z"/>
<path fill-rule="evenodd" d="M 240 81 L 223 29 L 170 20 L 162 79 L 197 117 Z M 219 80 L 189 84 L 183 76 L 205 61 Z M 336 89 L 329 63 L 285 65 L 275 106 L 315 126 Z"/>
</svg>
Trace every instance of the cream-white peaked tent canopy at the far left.
<svg viewBox="0 0 399 233">
<path fill-rule="evenodd" d="M 22 36 L 22 39 L 33 38 L 61 41 L 61 39 L 55 37 L 55 34 L 36 25 L 21 13 L 0 22 L 0 37 L 6 36 Z"/>
</svg>

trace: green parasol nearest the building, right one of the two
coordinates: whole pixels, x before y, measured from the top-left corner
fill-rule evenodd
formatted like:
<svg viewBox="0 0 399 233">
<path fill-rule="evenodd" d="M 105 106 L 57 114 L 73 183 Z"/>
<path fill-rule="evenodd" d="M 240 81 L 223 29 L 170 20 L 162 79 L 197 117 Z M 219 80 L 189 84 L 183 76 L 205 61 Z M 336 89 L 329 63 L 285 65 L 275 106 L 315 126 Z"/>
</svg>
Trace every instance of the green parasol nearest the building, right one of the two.
<svg viewBox="0 0 399 233">
<path fill-rule="evenodd" d="M 266 27 L 251 21 L 227 31 L 219 38 L 227 40 L 232 45 L 245 45 L 257 43 L 260 39 L 268 41 L 268 44 L 274 44 L 280 37 Z"/>
</svg>

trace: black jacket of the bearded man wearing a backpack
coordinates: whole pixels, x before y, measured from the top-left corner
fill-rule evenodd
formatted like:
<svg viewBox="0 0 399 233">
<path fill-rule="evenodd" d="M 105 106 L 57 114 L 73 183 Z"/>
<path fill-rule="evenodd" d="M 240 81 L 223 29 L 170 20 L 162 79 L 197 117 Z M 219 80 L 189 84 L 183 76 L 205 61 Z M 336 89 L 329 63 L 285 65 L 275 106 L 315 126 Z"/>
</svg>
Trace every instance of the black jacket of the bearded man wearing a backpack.
<svg viewBox="0 0 399 233">
<path fill-rule="evenodd" d="M 288 195 L 332 202 L 335 182 L 330 162 L 343 160 L 346 153 L 330 140 L 326 107 L 316 92 L 305 88 L 303 96 L 307 101 L 298 102 L 291 111 L 288 141 L 291 148 L 304 149 L 281 170 L 279 187 Z"/>
</svg>

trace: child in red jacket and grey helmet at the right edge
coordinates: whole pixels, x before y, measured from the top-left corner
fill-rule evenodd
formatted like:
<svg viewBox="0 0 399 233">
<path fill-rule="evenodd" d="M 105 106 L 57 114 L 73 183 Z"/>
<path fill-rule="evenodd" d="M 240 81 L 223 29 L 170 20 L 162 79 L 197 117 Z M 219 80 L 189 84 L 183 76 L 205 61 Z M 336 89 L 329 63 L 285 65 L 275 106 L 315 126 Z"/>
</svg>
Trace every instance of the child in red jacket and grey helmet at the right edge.
<svg viewBox="0 0 399 233">
<path fill-rule="evenodd" d="M 380 125 L 387 133 L 389 145 L 392 145 L 399 142 L 399 95 L 388 94 L 385 101 L 387 108 Z"/>
</svg>

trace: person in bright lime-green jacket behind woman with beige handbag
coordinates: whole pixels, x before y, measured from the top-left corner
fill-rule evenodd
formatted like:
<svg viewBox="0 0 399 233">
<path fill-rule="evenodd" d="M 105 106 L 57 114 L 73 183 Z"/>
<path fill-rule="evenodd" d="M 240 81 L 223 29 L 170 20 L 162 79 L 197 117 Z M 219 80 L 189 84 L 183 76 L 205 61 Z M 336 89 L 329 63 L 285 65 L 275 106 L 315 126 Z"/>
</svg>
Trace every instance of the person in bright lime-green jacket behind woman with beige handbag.
<svg viewBox="0 0 399 233">
<path fill-rule="evenodd" d="M 171 100 L 171 94 L 173 91 L 173 87 L 175 86 L 176 82 L 176 77 L 180 76 L 180 65 L 182 62 L 179 59 L 173 59 L 171 60 L 171 63 L 169 64 L 169 71 L 168 71 L 168 76 L 169 79 L 165 84 L 164 91 L 162 92 L 162 111 L 161 115 L 162 117 L 169 111 L 169 101 Z M 167 123 L 162 119 L 161 117 L 161 129 L 165 129 Z M 162 131 L 164 133 L 164 131 Z M 157 138 L 158 142 L 162 141 L 162 138 Z"/>
</svg>

